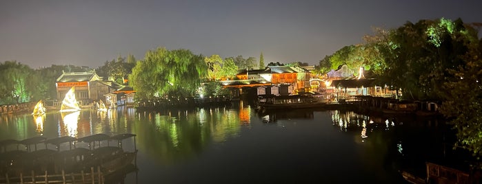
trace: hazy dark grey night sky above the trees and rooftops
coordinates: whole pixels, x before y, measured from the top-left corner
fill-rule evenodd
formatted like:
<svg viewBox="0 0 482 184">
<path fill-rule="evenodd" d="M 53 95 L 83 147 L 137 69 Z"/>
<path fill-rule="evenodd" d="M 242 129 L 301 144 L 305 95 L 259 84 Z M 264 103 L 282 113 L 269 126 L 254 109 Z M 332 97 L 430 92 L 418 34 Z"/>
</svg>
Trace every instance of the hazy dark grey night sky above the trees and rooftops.
<svg viewBox="0 0 482 184">
<path fill-rule="evenodd" d="M 0 62 L 99 67 L 156 47 L 317 65 L 372 27 L 482 22 L 482 1 L 0 1 Z"/>
</svg>

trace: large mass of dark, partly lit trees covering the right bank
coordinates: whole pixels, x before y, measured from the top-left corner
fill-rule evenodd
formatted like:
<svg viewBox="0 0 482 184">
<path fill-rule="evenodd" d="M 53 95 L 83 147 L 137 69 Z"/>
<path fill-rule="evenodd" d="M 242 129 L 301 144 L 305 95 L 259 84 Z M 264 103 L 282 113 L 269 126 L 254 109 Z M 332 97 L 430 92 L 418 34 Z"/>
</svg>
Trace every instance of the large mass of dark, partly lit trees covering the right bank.
<svg viewBox="0 0 482 184">
<path fill-rule="evenodd" d="M 461 19 L 407 22 L 374 29 L 364 43 L 349 45 L 319 61 L 318 73 L 346 64 L 370 69 L 379 86 L 401 89 L 405 100 L 441 102 L 457 130 L 456 146 L 482 155 L 482 39 L 479 23 Z"/>
</svg>

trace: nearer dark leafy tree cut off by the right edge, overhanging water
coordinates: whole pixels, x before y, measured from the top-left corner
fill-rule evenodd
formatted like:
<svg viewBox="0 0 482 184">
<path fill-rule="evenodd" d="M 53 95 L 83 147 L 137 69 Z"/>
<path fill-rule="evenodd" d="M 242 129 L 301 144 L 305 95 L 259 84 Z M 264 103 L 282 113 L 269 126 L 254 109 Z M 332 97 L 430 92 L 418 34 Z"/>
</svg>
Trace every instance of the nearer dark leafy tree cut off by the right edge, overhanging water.
<svg viewBox="0 0 482 184">
<path fill-rule="evenodd" d="M 482 40 L 481 40 L 482 41 Z M 482 156 L 482 56 L 479 42 L 468 42 L 469 51 L 461 57 L 464 65 L 448 69 L 452 78 L 443 83 L 443 115 L 452 119 L 457 130 L 456 146 Z"/>
</svg>

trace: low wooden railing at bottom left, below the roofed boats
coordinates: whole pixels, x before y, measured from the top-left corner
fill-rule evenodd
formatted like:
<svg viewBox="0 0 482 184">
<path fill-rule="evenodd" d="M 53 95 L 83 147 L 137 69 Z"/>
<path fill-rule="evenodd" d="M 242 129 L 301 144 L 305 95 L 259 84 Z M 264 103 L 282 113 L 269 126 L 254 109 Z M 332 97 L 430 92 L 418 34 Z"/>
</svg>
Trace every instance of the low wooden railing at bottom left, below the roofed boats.
<svg viewBox="0 0 482 184">
<path fill-rule="evenodd" d="M 66 174 L 62 170 L 61 174 L 36 174 L 34 171 L 30 175 L 24 175 L 20 173 L 19 176 L 9 176 L 5 174 L 5 178 L 0 178 L 0 183 L 104 183 L 104 176 L 101 172 L 100 166 L 97 167 L 97 172 L 94 172 L 94 168 L 90 168 L 90 172 L 78 172 Z"/>
</svg>

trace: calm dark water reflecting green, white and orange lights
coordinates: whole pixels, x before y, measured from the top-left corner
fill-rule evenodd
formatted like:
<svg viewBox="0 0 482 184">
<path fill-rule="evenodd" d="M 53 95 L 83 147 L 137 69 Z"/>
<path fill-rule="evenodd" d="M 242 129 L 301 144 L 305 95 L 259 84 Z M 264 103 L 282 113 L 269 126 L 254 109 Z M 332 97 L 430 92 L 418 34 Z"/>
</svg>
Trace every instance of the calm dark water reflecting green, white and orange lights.
<svg viewBox="0 0 482 184">
<path fill-rule="evenodd" d="M 3 115 L 0 140 L 136 134 L 137 172 L 125 183 L 404 183 L 399 170 L 424 172 L 450 157 L 435 119 L 372 117 L 350 111 L 259 114 L 248 105 L 139 113 L 119 107 L 66 117 Z M 133 143 L 124 143 L 131 146 Z"/>
</svg>

